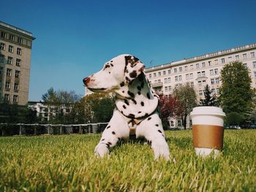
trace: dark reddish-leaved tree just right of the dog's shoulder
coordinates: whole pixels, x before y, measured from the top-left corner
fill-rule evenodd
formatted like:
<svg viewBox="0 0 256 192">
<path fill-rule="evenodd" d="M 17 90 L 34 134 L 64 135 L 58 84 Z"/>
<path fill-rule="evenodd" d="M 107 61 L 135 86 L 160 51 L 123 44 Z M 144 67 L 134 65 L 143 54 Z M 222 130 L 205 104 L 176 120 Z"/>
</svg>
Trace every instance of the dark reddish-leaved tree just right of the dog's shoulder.
<svg viewBox="0 0 256 192">
<path fill-rule="evenodd" d="M 169 119 L 178 115 L 178 100 L 173 96 L 160 96 L 159 98 L 160 114 L 164 129 L 169 126 Z"/>
</svg>

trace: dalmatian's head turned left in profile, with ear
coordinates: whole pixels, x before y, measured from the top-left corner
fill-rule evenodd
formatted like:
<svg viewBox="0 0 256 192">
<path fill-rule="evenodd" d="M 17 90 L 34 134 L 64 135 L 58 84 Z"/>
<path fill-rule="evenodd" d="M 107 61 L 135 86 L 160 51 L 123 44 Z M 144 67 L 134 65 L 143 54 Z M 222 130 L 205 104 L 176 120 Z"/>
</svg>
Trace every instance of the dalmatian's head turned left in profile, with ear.
<svg viewBox="0 0 256 192">
<path fill-rule="evenodd" d="M 84 78 L 83 83 L 94 92 L 116 92 L 135 80 L 144 68 L 135 56 L 118 55 L 106 62 L 101 71 Z"/>
</svg>

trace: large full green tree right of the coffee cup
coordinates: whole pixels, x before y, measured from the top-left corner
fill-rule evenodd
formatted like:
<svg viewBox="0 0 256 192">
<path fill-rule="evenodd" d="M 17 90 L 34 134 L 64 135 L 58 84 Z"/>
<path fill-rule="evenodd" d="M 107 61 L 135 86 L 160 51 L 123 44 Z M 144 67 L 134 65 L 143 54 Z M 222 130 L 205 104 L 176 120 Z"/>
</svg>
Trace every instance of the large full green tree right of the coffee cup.
<svg viewBox="0 0 256 192">
<path fill-rule="evenodd" d="M 245 121 L 246 113 L 252 109 L 253 91 L 249 69 L 241 62 L 232 62 L 222 69 L 221 80 L 219 101 L 224 112 L 238 112 Z"/>
</svg>

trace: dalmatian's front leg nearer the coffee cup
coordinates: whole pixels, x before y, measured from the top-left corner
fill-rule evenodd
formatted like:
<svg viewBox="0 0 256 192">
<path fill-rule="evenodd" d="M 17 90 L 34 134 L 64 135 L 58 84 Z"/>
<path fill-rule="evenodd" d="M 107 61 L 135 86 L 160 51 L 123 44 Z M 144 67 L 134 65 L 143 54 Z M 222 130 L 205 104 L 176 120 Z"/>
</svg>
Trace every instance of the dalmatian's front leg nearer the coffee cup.
<svg viewBox="0 0 256 192">
<path fill-rule="evenodd" d="M 157 113 L 143 120 L 136 130 L 136 137 L 145 137 L 154 151 L 154 158 L 170 159 L 170 151 L 165 140 L 162 121 Z"/>
</svg>

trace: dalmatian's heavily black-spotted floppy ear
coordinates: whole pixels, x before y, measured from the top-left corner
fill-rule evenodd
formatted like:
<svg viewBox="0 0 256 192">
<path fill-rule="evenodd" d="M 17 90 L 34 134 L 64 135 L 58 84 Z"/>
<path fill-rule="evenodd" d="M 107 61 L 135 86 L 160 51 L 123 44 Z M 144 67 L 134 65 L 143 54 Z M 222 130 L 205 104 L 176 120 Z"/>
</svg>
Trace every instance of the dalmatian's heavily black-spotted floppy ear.
<svg viewBox="0 0 256 192">
<path fill-rule="evenodd" d="M 127 83 L 135 80 L 138 75 L 143 71 L 145 65 L 132 55 L 124 56 L 125 67 L 124 67 L 124 77 Z"/>
</svg>

